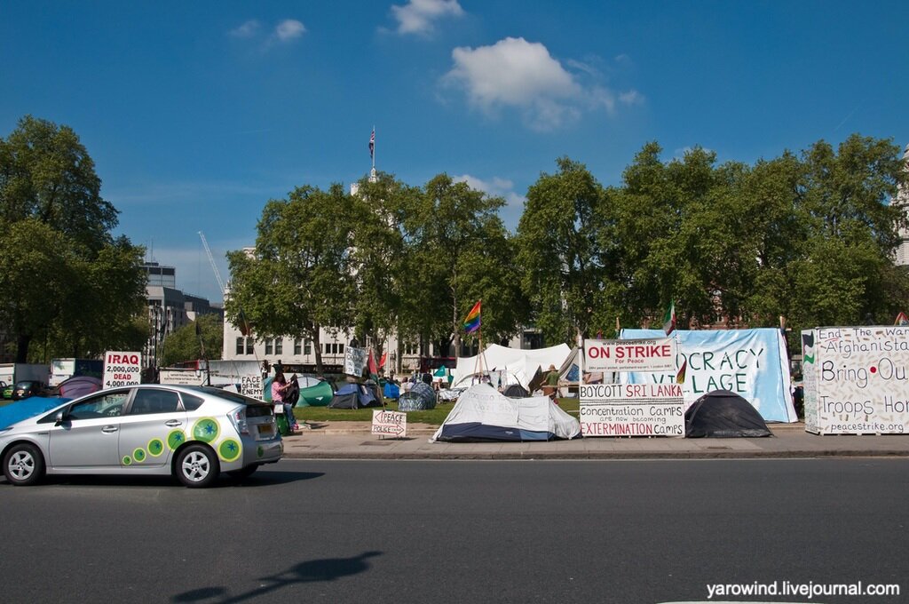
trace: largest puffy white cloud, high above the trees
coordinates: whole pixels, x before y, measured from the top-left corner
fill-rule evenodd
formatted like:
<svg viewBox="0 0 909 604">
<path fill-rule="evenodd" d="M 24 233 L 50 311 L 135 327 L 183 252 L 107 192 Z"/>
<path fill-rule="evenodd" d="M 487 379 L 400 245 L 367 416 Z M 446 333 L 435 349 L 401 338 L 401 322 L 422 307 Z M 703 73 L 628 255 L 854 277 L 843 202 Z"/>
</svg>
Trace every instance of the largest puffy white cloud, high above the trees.
<svg viewBox="0 0 909 604">
<path fill-rule="evenodd" d="M 563 65 L 538 42 L 507 37 L 491 46 L 461 46 L 452 51 L 452 59 L 454 67 L 443 84 L 461 87 L 468 103 L 487 116 L 517 109 L 526 126 L 546 131 L 573 123 L 586 110 L 603 107 L 610 115 L 615 112 L 614 92 L 584 83 L 601 77 L 593 66 L 577 61 Z M 643 96 L 634 95 L 623 93 L 618 101 L 625 105 L 643 101 Z"/>
</svg>

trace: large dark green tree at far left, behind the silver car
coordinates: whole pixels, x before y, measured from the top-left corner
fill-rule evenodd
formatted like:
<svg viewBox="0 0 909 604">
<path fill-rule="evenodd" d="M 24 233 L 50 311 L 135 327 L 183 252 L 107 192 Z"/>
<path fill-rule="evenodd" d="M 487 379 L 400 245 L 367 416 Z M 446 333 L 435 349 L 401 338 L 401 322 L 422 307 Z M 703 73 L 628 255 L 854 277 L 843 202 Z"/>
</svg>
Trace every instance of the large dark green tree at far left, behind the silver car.
<svg viewBox="0 0 909 604">
<path fill-rule="evenodd" d="M 100 187 L 91 157 L 67 126 L 26 116 L 0 139 L 0 216 L 9 233 L 3 262 L 15 276 L 0 277 L 0 287 L 16 292 L 0 299 L 0 317 L 15 337 L 18 362 L 30 358 L 37 339 L 64 356 L 95 355 L 135 339 L 145 300 L 143 251 L 111 236 L 117 212 Z M 36 249 L 42 246 L 44 252 Z"/>
</svg>

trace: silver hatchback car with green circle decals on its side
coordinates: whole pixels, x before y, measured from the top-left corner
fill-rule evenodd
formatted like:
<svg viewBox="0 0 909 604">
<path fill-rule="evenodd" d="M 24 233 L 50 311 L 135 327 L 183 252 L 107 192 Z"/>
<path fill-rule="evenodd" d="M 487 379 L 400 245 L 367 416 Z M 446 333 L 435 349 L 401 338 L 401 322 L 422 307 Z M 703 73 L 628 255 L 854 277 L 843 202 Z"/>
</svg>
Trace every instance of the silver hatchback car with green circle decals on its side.
<svg viewBox="0 0 909 604">
<path fill-rule="evenodd" d="M 198 386 L 111 388 L 0 429 L 3 473 L 14 485 L 45 473 L 171 474 L 208 487 L 222 471 L 245 478 L 283 453 L 265 402 Z"/>
</svg>

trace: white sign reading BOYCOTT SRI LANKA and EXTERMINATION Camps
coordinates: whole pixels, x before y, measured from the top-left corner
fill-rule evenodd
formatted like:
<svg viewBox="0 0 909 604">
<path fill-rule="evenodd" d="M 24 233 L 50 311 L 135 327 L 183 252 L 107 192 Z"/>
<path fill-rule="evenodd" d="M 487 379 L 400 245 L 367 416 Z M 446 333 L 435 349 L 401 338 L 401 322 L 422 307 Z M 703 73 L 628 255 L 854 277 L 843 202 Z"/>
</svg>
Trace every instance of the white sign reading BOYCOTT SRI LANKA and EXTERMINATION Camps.
<svg viewBox="0 0 909 604">
<path fill-rule="evenodd" d="M 584 437 L 684 437 L 681 384 L 582 384 Z"/>
</svg>

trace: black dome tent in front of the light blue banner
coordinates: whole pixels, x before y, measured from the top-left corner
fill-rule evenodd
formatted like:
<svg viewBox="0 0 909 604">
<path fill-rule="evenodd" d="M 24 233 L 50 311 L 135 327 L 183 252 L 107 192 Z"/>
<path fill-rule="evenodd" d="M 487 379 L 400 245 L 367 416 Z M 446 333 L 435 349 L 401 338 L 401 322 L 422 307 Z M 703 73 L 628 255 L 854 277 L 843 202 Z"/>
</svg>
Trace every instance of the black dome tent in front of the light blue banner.
<svg viewBox="0 0 909 604">
<path fill-rule="evenodd" d="M 694 401 L 684 414 L 686 438 L 754 438 L 773 436 L 761 414 L 729 390 L 714 390 Z"/>
</svg>

